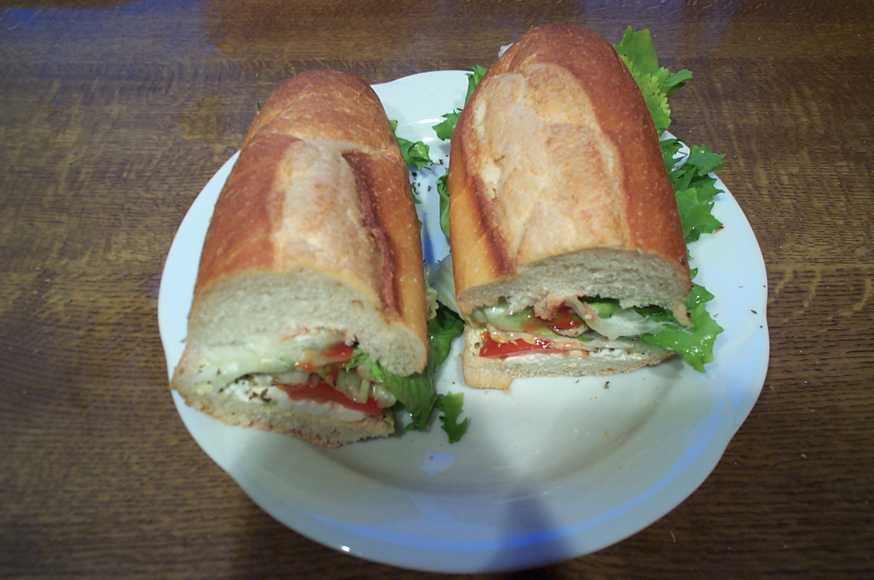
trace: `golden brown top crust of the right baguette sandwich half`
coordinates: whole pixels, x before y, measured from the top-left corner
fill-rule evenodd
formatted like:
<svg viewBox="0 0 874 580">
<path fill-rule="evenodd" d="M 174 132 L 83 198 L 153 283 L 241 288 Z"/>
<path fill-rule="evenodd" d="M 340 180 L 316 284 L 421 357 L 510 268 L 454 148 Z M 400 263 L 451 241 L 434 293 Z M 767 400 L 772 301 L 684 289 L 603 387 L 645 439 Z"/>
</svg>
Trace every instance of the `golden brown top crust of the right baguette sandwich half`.
<svg viewBox="0 0 874 580">
<path fill-rule="evenodd" d="M 660 257 L 688 282 L 646 103 L 591 31 L 532 29 L 489 68 L 456 126 L 448 180 L 462 310 L 468 288 L 588 248 Z"/>
</svg>

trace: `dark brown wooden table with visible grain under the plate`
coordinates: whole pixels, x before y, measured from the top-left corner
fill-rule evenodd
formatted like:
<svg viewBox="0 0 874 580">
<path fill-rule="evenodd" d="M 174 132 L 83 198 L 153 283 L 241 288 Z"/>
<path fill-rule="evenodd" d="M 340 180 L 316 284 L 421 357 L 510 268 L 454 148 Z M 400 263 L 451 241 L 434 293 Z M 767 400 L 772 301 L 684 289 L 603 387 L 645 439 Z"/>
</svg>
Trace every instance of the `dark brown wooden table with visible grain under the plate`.
<svg viewBox="0 0 874 580">
<path fill-rule="evenodd" d="M 4 4 L 0 577 L 432 577 L 284 528 L 201 452 L 167 386 L 163 261 L 281 80 L 489 64 L 548 22 L 649 28 L 662 65 L 695 73 L 672 130 L 727 155 L 771 363 L 679 507 L 593 555 L 482 577 L 874 577 L 874 4 Z"/>
</svg>

